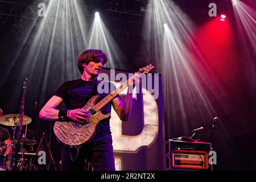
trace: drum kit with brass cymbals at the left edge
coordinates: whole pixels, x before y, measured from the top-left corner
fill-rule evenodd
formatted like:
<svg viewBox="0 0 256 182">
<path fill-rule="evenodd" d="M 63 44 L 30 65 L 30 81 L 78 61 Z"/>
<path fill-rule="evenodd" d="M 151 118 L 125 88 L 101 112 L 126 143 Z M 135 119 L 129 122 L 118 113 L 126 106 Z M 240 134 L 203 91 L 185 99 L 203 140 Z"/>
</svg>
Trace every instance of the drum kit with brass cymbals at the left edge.
<svg viewBox="0 0 256 182">
<path fill-rule="evenodd" d="M 34 136 L 33 130 L 28 130 L 27 125 L 31 123 L 32 119 L 26 115 L 23 115 L 23 126 L 26 125 L 26 129 L 22 130 L 22 138 L 16 139 L 15 130 L 18 130 L 20 123 L 20 114 L 7 114 L 0 117 L 0 124 L 5 126 L 11 126 L 14 130 L 13 140 L 11 142 L 11 155 L 0 154 L 0 171 L 31 171 L 36 169 L 32 164 L 32 156 L 36 155 L 34 151 L 34 145 L 38 144 L 36 140 L 26 139 Z M 16 147 L 15 147 L 16 146 Z M 4 146 L 3 146 L 4 147 Z M 5 148 L 1 148 L 4 150 Z M 28 147 L 30 147 L 28 149 Z M 20 150 L 20 151 L 18 151 Z"/>
</svg>

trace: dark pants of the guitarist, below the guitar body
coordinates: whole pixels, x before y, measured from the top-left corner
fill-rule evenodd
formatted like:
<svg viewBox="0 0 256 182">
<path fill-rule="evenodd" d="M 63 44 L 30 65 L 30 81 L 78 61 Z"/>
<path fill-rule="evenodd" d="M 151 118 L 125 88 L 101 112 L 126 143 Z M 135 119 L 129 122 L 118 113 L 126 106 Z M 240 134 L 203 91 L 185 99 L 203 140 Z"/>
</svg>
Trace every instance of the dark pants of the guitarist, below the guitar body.
<svg viewBox="0 0 256 182">
<path fill-rule="evenodd" d="M 61 170 L 63 171 L 83 170 L 85 159 L 92 163 L 94 171 L 115 171 L 112 135 L 97 130 L 93 139 L 79 150 L 66 146 L 61 148 Z"/>
</svg>

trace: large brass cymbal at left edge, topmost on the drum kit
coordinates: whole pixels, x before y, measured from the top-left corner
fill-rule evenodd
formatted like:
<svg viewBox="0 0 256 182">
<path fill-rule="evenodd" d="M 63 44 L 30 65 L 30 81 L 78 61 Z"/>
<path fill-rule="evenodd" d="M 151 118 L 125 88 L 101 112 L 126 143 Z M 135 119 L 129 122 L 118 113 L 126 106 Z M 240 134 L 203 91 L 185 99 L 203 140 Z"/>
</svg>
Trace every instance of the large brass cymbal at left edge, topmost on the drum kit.
<svg viewBox="0 0 256 182">
<path fill-rule="evenodd" d="M 0 124 L 5 126 L 15 126 L 14 124 L 18 124 L 20 119 L 20 114 L 7 114 L 2 115 L 0 117 Z M 32 119 L 28 117 L 27 115 L 24 115 L 23 117 L 23 125 L 27 125 L 30 123 Z"/>
</svg>

